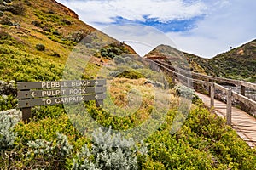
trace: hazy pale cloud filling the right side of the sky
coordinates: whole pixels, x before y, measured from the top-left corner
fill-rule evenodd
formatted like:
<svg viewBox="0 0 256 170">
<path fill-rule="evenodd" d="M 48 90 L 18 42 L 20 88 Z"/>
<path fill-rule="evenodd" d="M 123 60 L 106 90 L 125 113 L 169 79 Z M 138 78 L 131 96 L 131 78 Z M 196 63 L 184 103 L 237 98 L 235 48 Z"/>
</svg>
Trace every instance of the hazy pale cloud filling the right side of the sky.
<svg viewBox="0 0 256 170">
<path fill-rule="evenodd" d="M 255 8 L 253 0 L 212 3 L 211 13 L 195 29 L 167 35 L 184 51 L 211 58 L 256 38 Z"/>
</svg>

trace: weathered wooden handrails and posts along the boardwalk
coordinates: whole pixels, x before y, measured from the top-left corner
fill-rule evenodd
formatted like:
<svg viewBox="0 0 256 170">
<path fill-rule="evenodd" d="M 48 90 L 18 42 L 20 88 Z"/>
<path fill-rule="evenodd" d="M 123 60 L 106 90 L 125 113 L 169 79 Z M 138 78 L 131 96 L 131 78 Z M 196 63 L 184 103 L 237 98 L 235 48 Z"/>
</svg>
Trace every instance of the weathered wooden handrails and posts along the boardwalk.
<svg viewBox="0 0 256 170">
<path fill-rule="evenodd" d="M 231 114 L 232 114 L 232 98 L 240 101 L 241 109 L 244 110 L 245 105 L 249 105 L 249 107 L 256 110 L 256 101 L 253 99 L 249 99 L 245 96 L 245 88 L 252 88 L 256 90 L 256 84 L 251 82 L 243 82 L 239 80 L 233 80 L 229 78 L 221 78 L 221 77 L 212 77 L 203 75 L 200 73 L 195 73 L 192 71 L 186 71 L 184 69 L 173 67 L 172 65 L 161 62 L 160 60 L 152 60 L 155 65 L 160 66 L 165 71 L 171 73 L 172 79 L 175 82 L 183 83 L 183 85 L 193 88 L 192 84 L 200 84 L 209 88 L 209 95 L 211 96 L 211 107 L 214 107 L 214 97 L 215 97 L 215 89 L 220 90 L 224 94 L 226 94 L 227 99 L 227 108 L 226 108 L 226 120 L 227 124 L 231 125 Z M 241 94 L 237 94 L 229 88 L 225 88 L 219 83 L 228 83 L 236 86 L 241 86 Z"/>
</svg>

